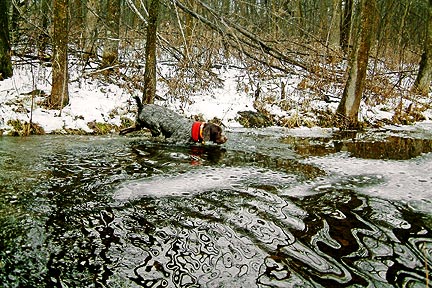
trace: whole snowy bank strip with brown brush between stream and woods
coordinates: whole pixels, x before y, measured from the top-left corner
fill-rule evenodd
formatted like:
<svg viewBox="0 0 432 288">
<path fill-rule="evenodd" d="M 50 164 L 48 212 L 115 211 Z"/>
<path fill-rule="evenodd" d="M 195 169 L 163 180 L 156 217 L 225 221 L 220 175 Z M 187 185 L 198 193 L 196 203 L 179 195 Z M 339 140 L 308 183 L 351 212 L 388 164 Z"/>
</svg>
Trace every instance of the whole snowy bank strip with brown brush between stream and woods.
<svg viewBox="0 0 432 288">
<path fill-rule="evenodd" d="M 193 71 L 179 73 L 174 64 L 158 64 L 156 103 L 186 117 L 217 118 L 227 128 L 261 124 L 331 127 L 343 92 L 343 81 L 329 80 L 328 75 L 258 74 L 232 64 L 214 65 L 207 74 L 211 79 L 202 85 L 203 76 L 198 79 Z M 70 101 L 62 110 L 48 107 L 51 71 L 47 63 L 14 59 L 13 77 L 0 82 L 0 135 L 23 135 L 26 129 L 32 134 L 107 134 L 133 123 L 133 96 L 142 96 L 142 82 L 136 75 L 142 70 L 131 73 L 130 68 L 123 67 L 107 74 L 96 66 L 83 69 L 71 65 Z M 343 71 L 341 67 L 337 73 Z M 380 76 L 366 84 L 359 112 L 364 127 L 432 121 L 432 93 L 427 97 L 407 93 L 412 78 Z M 247 116 L 242 117 L 241 111 L 258 114 L 267 121 L 255 125 Z"/>
</svg>

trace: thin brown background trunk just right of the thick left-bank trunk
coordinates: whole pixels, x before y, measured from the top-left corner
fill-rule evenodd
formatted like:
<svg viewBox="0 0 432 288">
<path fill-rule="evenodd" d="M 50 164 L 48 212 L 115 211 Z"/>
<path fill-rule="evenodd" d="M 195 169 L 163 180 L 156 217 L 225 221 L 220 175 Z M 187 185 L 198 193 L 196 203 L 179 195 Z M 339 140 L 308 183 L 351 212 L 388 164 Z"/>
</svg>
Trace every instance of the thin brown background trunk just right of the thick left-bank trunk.
<svg viewBox="0 0 432 288">
<path fill-rule="evenodd" d="M 96 36 L 99 14 L 99 0 L 88 0 L 84 28 L 84 61 L 96 56 Z"/>
</svg>

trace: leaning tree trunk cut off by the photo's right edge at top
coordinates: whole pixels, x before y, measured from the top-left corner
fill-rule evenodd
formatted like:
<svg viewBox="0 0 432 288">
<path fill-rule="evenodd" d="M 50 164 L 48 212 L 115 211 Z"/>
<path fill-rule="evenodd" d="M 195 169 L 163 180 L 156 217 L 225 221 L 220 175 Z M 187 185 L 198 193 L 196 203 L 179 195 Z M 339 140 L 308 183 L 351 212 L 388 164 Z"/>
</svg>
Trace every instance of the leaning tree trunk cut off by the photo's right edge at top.
<svg viewBox="0 0 432 288">
<path fill-rule="evenodd" d="M 415 92 L 422 95 L 429 93 L 432 81 L 432 0 L 429 0 L 428 11 L 426 40 L 424 42 L 419 72 L 412 88 Z"/>
</svg>

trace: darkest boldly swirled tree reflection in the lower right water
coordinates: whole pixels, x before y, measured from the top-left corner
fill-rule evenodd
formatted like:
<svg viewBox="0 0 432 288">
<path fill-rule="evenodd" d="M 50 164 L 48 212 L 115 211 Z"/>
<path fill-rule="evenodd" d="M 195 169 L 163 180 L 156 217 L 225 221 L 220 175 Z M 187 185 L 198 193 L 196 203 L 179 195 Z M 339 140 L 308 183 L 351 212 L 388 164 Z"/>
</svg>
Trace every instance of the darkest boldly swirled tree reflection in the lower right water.
<svg viewBox="0 0 432 288">
<path fill-rule="evenodd" d="M 342 189 L 296 203 L 309 213 L 304 219 L 305 230 L 294 233 L 296 239 L 311 245 L 328 267 L 338 267 L 324 270 L 325 265 L 310 261 L 298 265 L 299 273 L 307 271 L 307 277 L 329 287 L 369 282 L 400 287 L 409 282 L 425 284 L 425 259 L 428 266 L 432 261 L 421 247 L 431 246 L 431 230 L 421 221 L 408 224 L 419 215 Z"/>
</svg>

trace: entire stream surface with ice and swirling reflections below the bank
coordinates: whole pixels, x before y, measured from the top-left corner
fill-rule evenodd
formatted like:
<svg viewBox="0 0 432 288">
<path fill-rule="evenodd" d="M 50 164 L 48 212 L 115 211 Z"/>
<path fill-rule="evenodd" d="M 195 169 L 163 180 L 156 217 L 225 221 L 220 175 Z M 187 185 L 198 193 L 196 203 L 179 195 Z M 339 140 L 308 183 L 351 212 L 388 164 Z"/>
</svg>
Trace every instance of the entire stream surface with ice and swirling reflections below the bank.
<svg viewBox="0 0 432 288">
<path fill-rule="evenodd" d="M 0 286 L 427 287 L 420 136 L 0 138 Z"/>
</svg>

